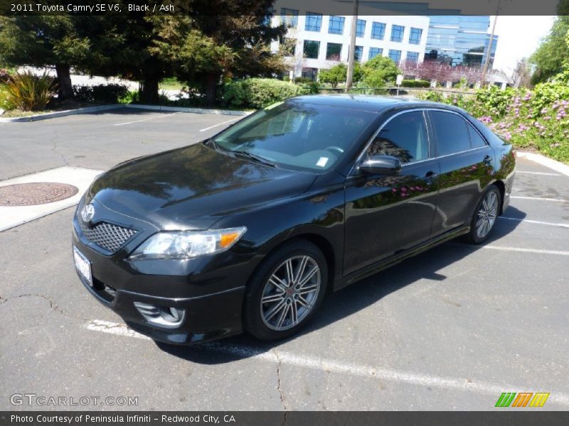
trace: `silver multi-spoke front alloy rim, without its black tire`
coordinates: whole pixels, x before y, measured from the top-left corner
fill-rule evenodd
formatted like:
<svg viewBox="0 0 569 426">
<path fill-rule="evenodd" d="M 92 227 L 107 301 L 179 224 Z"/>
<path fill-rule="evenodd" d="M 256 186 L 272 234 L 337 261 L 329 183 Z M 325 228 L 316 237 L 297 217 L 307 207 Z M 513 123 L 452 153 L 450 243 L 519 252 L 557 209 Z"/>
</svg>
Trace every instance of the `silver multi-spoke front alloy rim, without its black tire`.
<svg viewBox="0 0 569 426">
<path fill-rule="evenodd" d="M 314 308 L 321 288 L 321 271 L 310 256 L 292 256 L 270 275 L 260 310 L 265 325 L 277 332 L 296 326 Z"/>
</svg>

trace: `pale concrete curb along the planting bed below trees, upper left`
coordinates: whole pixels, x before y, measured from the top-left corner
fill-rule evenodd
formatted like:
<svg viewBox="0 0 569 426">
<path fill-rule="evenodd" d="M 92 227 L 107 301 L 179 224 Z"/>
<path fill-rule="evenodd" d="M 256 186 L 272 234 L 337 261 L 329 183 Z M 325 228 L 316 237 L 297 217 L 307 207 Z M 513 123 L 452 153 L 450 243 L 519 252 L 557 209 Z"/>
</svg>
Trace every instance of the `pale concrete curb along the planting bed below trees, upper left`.
<svg viewBox="0 0 569 426">
<path fill-rule="evenodd" d="M 141 104 L 112 104 L 100 105 L 99 107 L 87 107 L 78 109 L 68 109 L 65 111 L 48 112 L 46 114 L 37 114 L 25 117 L 11 117 L 3 119 L 0 117 L 0 123 L 22 123 L 28 121 L 39 121 L 55 119 L 57 117 L 65 117 L 76 114 L 90 114 L 97 111 L 106 111 L 107 109 L 147 109 L 151 111 L 179 111 L 191 112 L 193 114 L 218 114 L 228 116 L 248 116 L 253 111 L 233 111 L 231 109 L 206 109 L 206 108 L 186 108 L 186 107 L 166 107 L 162 105 L 141 105 Z"/>
</svg>

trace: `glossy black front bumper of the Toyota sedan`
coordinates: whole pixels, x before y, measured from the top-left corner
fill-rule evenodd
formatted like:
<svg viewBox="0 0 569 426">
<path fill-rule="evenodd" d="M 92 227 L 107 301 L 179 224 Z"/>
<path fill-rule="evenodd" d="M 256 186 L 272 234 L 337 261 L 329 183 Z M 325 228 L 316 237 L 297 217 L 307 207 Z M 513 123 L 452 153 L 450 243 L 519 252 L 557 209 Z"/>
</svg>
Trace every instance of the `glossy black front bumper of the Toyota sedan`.
<svg viewBox="0 0 569 426">
<path fill-rule="evenodd" d="M 102 205 L 97 205 L 101 212 Z M 123 223 L 104 212 L 106 219 Z M 82 232 L 77 214 L 73 219 L 73 246 L 90 263 L 92 285 L 78 273 L 85 288 L 110 307 L 135 331 L 169 344 L 192 344 L 239 334 L 242 326 L 245 283 L 252 268 L 249 256 L 225 252 L 177 261 L 130 261 L 128 253 L 156 229 L 141 231 L 116 253 L 105 253 Z M 144 224 L 129 224 L 141 229 Z M 156 324 L 135 305 L 177 308 L 181 322 Z"/>
</svg>

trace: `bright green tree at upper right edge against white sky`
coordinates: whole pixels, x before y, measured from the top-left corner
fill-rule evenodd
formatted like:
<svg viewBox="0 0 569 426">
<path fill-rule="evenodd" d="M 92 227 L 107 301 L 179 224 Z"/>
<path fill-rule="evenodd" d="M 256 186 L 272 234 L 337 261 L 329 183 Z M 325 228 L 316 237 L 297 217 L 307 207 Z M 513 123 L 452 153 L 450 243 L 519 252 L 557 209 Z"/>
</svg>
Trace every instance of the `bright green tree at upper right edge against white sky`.
<svg viewBox="0 0 569 426">
<path fill-rule="evenodd" d="M 569 7 L 569 0 L 560 2 L 560 6 L 562 3 Z M 561 71 L 563 61 L 569 57 L 569 47 L 565 43 L 568 31 L 569 16 L 558 16 L 547 37 L 531 55 L 530 62 L 536 66 L 531 79 L 534 84 L 545 82 Z"/>
</svg>

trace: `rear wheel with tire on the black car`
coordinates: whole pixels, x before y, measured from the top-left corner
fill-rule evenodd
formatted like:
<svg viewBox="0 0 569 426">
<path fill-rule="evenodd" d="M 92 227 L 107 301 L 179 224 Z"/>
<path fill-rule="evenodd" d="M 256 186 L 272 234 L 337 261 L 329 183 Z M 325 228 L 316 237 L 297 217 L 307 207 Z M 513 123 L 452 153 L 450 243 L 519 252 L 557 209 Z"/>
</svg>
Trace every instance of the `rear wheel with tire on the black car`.
<svg viewBox="0 0 569 426">
<path fill-rule="evenodd" d="M 470 231 L 466 234 L 466 240 L 471 244 L 482 244 L 488 239 L 496 219 L 500 213 L 501 193 L 496 185 L 484 192 L 482 199 L 478 202 L 474 213 L 472 214 L 472 222 L 470 222 Z"/>
</svg>

